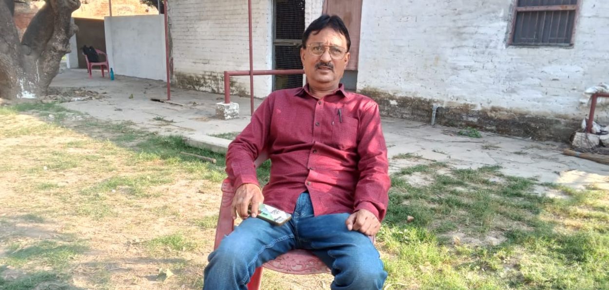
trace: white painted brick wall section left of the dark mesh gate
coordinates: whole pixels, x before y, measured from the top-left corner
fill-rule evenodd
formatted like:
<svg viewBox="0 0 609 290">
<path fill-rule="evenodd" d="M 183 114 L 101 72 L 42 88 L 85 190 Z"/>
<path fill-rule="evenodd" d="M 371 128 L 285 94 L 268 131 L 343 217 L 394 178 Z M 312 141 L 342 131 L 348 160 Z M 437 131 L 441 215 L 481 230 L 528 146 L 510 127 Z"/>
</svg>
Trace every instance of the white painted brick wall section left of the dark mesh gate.
<svg viewBox="0 0 609 290">
<path fill-rule="evenodd" d="M 272 69 L 272 0 L 252 1 L 254 69 Z M 205 75 L 200 91 L 224 92 L 224 71 L 248 71 L 247 1 L 178 0 L 169 10 L 174 71 Z M 214 79 L 214 80 L 212 80 Z M 233 77 L 249 93 L 249 77 Z M 272 77 L 254 77 L 254 94 L 266 97 Z"/>
</svg>

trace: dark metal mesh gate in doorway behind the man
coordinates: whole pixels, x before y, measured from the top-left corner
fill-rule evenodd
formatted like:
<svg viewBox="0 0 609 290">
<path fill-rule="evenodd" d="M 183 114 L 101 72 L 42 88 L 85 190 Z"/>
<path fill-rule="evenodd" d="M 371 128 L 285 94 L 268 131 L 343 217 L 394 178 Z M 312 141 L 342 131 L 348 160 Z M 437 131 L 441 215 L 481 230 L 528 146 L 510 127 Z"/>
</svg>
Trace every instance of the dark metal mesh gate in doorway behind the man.
<svg viewBox="0 0 609 290">
<path fill-rule="evenodd" d="M 302 69 L 300 43 L 305 32 L 305 0 L 275 0 L 273 7 L 273 69 Z M 302 85 L 303 75 L 273 77 L 273 91 Z"/>
</svg>

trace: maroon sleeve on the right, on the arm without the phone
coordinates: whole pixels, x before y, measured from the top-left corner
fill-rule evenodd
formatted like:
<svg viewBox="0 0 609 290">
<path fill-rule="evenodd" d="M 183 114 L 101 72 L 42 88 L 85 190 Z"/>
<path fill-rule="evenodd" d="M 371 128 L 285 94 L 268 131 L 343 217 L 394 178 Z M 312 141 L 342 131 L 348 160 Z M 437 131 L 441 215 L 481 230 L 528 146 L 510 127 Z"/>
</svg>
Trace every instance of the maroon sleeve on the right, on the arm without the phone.
<svg viewBox="0 0 609 290">
<path fill-rule="evenodd" d="M 389 162 L 387 146 L 382 134 L 378 104 L 371 101 L 362 112 L 359 123 L 361 140 L 357 145 L 360 156 L 357 165 L 360 172 L 355 188 L 355 211 L 369 210 L 379 221 L 385 218 L 389 204 Z"/>
</svg>

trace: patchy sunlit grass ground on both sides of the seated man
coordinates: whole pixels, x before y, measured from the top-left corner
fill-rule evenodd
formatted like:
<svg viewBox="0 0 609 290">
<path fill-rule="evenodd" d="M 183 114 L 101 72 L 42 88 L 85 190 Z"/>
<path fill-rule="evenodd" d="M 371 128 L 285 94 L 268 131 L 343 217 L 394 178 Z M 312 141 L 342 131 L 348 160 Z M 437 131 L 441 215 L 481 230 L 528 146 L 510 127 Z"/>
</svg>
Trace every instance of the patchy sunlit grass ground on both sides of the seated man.
<svg viewBox="0 0 609 290">
<path fill-rule="evenodd" d="M 1 289 L 201 288 L 222 154 L 56 104 L 2 106 L 0 122 L 0 264 L 10 266 L 0 267 Z M 415 165 L 392 176 L 376 236 L 385 289 L 609 288 L 606 191 L 393 158 Z M 258 168 L 261 184 L 269 172 L 269 161 Z M 417 176 L 429 182 L 410 184 Z M 532 194 L 538 185 L 567 198 Z M 176 275 L 154 283 L 158 268 Z M 262 288 L 325 289 L 331 280 L 268 271 Z"/>
</svg>

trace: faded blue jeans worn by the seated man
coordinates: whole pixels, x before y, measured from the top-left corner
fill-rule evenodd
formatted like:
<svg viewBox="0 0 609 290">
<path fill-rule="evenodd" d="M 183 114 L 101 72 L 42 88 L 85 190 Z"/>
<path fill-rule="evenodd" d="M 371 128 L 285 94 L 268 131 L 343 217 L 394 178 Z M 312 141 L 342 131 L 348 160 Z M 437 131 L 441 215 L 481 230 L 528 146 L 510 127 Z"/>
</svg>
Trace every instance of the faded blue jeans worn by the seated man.
<svg viewBox="0 0 609 290">
<path fill-rule="evenodd" d="M 379 253 L 368 236 L 347 230 L 348 216 L 313 216 L 309 194 L 302 193 L 283 226 L 245 219 L 209 254 L 203 289 L 246 290 L 256 268 L 291 249 L 311 250 L 328 265 L 332 289 L 382 289 L 387 272 Z"/>
</svg>

